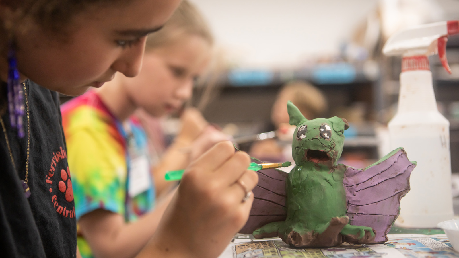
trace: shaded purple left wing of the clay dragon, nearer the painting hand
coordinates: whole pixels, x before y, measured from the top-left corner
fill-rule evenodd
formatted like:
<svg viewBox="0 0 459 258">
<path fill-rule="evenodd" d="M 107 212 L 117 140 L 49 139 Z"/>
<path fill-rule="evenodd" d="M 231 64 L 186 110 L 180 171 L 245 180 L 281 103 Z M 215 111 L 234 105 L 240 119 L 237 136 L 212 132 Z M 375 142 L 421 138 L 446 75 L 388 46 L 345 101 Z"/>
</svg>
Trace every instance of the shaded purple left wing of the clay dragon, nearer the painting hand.
<svg viewBox="0 0 459 258">
<path fill-rule="evenodd" d="M 252 234 L 253 231 L 271 222 L 284 221 L 285 180 L 288 173 L 277 169 L 257 171 L 258 184 L 252 190 L 254 200 L 246 225 L 239 231 L 241 234 Z"/>
</svg>

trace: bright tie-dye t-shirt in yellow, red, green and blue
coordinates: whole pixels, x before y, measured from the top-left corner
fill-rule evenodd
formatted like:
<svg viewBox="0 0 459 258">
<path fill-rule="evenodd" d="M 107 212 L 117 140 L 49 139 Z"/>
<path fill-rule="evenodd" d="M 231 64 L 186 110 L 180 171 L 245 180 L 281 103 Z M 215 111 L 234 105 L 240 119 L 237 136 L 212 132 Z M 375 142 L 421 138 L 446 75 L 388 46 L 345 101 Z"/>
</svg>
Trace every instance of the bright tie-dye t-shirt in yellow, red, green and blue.
<svg viewBox="0 0 459 258">
<path fill-rule="evenodd" d="M 131 222 L 151 210 L 155 191 L 139 121 L 130 118 L 122 124 L 94 91 L 68 101 L 61 111 L 77 221 L 99 208 Z M 139 170 L 146 171 L 140 178 Z M 78 247 L 84 258 L 93 257 L 81 236 Z"/>
</svg>

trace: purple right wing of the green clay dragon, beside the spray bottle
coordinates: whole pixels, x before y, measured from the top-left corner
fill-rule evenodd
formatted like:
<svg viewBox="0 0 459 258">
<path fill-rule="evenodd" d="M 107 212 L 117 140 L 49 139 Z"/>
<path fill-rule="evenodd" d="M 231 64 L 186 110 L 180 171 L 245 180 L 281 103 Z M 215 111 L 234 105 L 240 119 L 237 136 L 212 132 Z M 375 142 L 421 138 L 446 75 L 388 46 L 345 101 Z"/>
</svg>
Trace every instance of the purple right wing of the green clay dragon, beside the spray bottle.
<svg viewBox="0 0 459 258">
<path fill-rule="evenodd" d="M 344 172 L 349 224 L 376 231 L 374 243 L 387 241 L 386 234 L 400 213 L 400 199 L 409 191 L 409 175 L 416 163 L 398 148 L 364 169 Z"/>
</svg>

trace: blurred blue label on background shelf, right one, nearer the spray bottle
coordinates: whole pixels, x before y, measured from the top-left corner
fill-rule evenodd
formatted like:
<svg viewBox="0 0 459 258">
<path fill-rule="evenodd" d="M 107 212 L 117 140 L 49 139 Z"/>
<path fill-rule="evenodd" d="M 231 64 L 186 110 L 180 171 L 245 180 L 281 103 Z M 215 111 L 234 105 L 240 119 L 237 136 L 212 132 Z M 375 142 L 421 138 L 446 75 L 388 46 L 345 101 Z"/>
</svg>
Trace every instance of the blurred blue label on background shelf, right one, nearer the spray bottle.
<svg viewBox="0 0 459 258">
<path fill-rule="evenodd" d="M 316 84 L 348 84 L 355 77 L 355 68 L 347 63 L 321 64 L 312 71 L 312 79 Z"/>
</svg>

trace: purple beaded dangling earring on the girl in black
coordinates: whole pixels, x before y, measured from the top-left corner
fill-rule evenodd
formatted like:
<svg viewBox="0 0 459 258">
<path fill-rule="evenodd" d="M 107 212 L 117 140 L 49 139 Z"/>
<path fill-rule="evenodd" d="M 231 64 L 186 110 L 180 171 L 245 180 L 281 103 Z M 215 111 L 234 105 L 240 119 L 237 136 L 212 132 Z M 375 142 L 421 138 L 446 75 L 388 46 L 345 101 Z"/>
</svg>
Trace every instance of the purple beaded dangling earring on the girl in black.
<svg viewBox="0 0 459 258">
<path fill-rule="evenodd" d="M 24 101 L 22 86 L 19 83 L 19 71 L 17 70 L 16 51 L 14 44 L 10 44 L 8 51 L 8 109 L 12 128 L 17 129 L 19 137 L 24 137 L 22 116 L 24 115 Z"/>
</svg>

